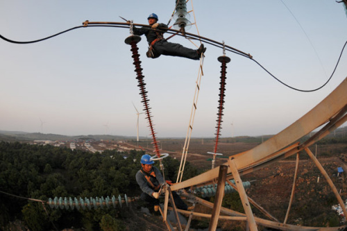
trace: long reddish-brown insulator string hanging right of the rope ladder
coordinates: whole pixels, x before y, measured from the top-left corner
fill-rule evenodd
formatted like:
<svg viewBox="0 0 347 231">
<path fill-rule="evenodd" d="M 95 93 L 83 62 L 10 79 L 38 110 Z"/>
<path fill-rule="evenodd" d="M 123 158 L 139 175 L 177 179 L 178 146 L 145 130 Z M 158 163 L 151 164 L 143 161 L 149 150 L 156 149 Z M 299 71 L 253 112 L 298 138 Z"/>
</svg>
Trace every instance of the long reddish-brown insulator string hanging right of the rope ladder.
<svg viewBox="0 0 347 231">
<path fill-rule="evenodd" d="M 220 56 L 218 58 L 219 62 L 221 62 L 221 82 L 220 85 L 221 87 L 219 87 L 219 106 L 218 106 L 218 119 L 217 121 L 217 130 L 216 133 L 214 135 L 216 135 L 216 143 L 214 144 L 214 153 L 217 153 L 217 147 L 218 147 L 218 142 L 219 142 L 219 136 L 221 135 L 221 122 L 222 121 L 222 117 L 223 117 L 223 103 L 224 103 L 224 96 L 226 96 L 226 94 L 224 94 L 226 92 L 226 63 L 230 62 L 230 58 L 228 58 L 227 56 Z"/>
</svg>

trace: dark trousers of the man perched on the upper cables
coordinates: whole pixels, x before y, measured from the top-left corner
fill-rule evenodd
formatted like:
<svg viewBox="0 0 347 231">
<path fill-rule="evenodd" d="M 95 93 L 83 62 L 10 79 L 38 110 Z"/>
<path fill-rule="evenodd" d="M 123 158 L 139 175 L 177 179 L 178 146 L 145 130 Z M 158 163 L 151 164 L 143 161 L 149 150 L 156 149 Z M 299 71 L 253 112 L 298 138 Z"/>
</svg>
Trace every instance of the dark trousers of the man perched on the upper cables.
<svg viewBox="0 0 347 231">
<path fill-rule="evenodd" d="M 160 40 L 158 42 L 155 42 L 153 49 L 155 50 L 155 53 L 161 55 L 180 56 L 184 58 L 190 58 L 192 60 L 200 59 L 198 51 L 189 49 L 178 43 L 167 42 L 167 40 Z"/>
</svg>

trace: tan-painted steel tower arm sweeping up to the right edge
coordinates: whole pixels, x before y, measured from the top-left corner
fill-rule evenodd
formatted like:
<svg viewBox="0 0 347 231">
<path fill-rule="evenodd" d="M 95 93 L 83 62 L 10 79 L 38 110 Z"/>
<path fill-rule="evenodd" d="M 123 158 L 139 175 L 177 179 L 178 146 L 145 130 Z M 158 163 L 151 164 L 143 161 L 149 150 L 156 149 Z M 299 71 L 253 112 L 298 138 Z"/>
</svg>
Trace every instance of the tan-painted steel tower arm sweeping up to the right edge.
<svg viewBox="0 0 347 231">
<path fill-rule="evenodd" d="M 271 139 L 266 140 L 266 142 L 256 146 L 255 148 L 229 157 L 228 162 L 224 164 L 228 166 L 229 175 L 227 176 L 227 179 L 229 180 L 231 178 L 235 178 L 235 182 L 237 182 L 237 191 L 239 191 L 240 198 L 242 199 L 242 204 L 244 205 L 244 209 L 246 211 L 246 218 L 241 218 L 239 217 L 240 215 L 236 215 L 237 217 L 235 217 L 235 212 L 232 212 L 230 215 L 233 217 L 229 219 L 241 219 L 243 221 L 247 221 L 251 230 L 257 230 L 257 224 L 261 224 L 270 228 L 277 227 L 281 230 L 340 230 L 341 227 L 298 228 L 298 226 L 296 225 L 287 225 L 285 223 L 279 223 L 278 221 L 266 221 L 254 218 L 253 213 L 251 211 L 251 207 L 248 203 L 248 196 L 246 195 L 246 191 L 244 191 L 244 187 L 242 186 L 242 180 L 240 176 L 259 170 L 265 165 L 277 162 L 278 160 L 285 159 L 291 155 L 295 155 L 302 150 L 305 150 L 307 154 L 310 155 L 310 157 L 312 158 L 312 153 L 310 153 L 308 146 L 314 144 L 314 142 L 318 141 L 319 139 L 322 139 L 330 132 L 341 126 L 345 121 L 347 121 L 346 112 L 347 78 L 345 78 L 332 93 L 330 93 L 325 99 L 323 99 L 321 103 L 316 105 L 316 107 L 310 110 L 310 112 L 307 112 L 307 114 L 298 119 L 296 122 L 292 123 L 291 126 L 285 128 L 285 130 L 282 130 L 277 135 L 271 137 Z M 308 139 L 306 142 L 304 142 L 303 144 L 297 142 L 298 139 L 301 139 L 302 137 L 309 134 L 316 128 L 319 128 L 325 123 L 326 125 L 323 126 L 323 128 L 321 128 L 319 132 L 316 132 L 316 134 L 312 136 L 310 139 Z M 321 165 L 319 164 L 318 160 L 316 160 L 315 158 L 312 158 L 312 160 L 314 160 L 315 164 L 323 172 L 324 170 L 321 169 Z M 178 189 L 184 189 L 186 187 L 192 187 L 196 185 L 204 185 L 208 182 L 212 182 L 213 180 L 216 180 L 219 176 L 219 169 L 220 167 L 218 166 L 214 169 L 211 169 L 210 171 L 202 173 L 199 176 L 196 176 L 189 180 L 185 180 L 184 182 L 178 182 L 177 184 L 171 186 L 171 190 L 176 191 Z M 325 176 L 325 178 L 327 177 Z M 334 191 L 335 187 L 333 185 L 330 185 L 330 187 L 332 187 L 332 190 Z M 338 198 L 338 200 L 341 203 L 341 198 Z M 226 210 L 228 209 L 222 208 L 221 212 Z M 178 209 L 178 211 L 180 210 Z M 345 216 L 347 216 L 346 209 L 344 209 L 344 213 Z M 194 216 L 211 217 L 212 215 L 202 215 L 194 213 Z M 287 216 L 288 214 L 286 215 L 286 221 Z M 224 217 L 219 216 L 219 219 L 224 219 Z"/>
</svg>

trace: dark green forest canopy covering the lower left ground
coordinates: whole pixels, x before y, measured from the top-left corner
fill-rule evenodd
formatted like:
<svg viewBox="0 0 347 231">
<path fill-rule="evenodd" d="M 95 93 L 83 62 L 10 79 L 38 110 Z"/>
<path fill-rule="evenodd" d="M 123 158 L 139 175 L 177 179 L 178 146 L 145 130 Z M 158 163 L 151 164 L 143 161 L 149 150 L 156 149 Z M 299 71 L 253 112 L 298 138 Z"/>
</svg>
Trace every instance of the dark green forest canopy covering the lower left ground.
<svg viewBox="0 0 347 231">
<path fill-rule="evenodd" d="M 107 196 L 139 196 L 135 174 L 140 169 L 143 151 L 107 150 L 90 153 L 69 148 L 38 146 L 19 142 L 0 142 L 0 228 L 9 230 L 22 221 L 31 230 L 56 230 L 83 227 L 87 230 L 123 230 L 119 209 L 51 209 L 35 198 L 90 198 Z M 155 163 L 155 165 L 158 163 Z M 175 180 L 178 160 L 164 159 L 167 180 Z M 198 170 L 189 163 L 185 179 Z M 15 196 L 12 196 L 12 195 Z"/>
</svg>

